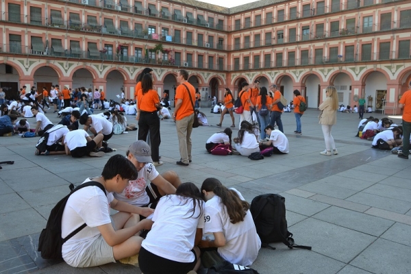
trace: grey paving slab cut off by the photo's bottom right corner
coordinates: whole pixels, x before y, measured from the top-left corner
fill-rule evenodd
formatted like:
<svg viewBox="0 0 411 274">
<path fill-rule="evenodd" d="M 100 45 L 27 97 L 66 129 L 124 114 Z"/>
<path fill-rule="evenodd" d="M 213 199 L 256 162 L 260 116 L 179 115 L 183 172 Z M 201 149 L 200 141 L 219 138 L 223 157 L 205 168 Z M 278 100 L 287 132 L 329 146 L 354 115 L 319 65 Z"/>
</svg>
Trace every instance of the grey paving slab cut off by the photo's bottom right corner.
<svg viewBox="0 0 411 274">
<path fill-rule="evenodd" d="M 388 252 L 395 250 L 395 252 Z M 409 273 L 411 247 L 389 240 L 377 239 L 350 264 L 371 273 Z"/>
</svg>

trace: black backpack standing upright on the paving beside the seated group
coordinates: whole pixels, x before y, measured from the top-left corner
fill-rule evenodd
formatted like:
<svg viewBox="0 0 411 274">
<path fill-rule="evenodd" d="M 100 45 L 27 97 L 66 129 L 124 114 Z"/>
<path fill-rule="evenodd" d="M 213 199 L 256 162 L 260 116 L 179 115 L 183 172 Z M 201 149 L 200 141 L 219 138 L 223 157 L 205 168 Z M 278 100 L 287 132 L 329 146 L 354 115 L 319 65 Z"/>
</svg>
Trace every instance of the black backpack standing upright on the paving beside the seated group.
<svg viewBox="0 0 411 274">
<path fill-rule="evenodd" d="M 270 247 L 271 242 L 283 242 L 288 248 L 311 250 L 311 247 L 295 245 L 288 232 L 286 220 L 286 199 L 277 194 L 258 195 L 251 201 L 251 215 L 260 236 L 262 247 Z"/>
</svg>

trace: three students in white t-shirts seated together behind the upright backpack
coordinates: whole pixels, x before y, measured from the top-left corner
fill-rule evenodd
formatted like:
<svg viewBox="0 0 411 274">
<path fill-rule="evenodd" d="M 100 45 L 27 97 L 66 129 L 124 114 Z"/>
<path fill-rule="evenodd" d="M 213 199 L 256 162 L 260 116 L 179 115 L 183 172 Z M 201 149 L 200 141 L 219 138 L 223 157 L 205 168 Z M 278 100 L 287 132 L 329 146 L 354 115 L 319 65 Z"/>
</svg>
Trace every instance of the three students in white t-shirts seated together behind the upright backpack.
<svg viewBox="0 0 411 274">
<path fill-rule="evenodd" d="M 266 136 L 264 140 L 259 139 L 258 127 L 253 126 L 248 121 L 242 121 L 238 136 L 233 139 L 234 146 L 232 153 L 235 155 L 249 156 L 251 153 L 260 152 L 268 147 L 273 147 L 274 154 L 286 154 L 289 152 L 287 137 L 272 125 L 267 125 L 264 129 Z M 257 134 L 257 135 L 256 135 Z M 223 132 L 217 132 L 208 138 L 206 149 L 211 153 L 217 145 L 232 145 L 232 129 L 227 127 Z"/>
</svg>

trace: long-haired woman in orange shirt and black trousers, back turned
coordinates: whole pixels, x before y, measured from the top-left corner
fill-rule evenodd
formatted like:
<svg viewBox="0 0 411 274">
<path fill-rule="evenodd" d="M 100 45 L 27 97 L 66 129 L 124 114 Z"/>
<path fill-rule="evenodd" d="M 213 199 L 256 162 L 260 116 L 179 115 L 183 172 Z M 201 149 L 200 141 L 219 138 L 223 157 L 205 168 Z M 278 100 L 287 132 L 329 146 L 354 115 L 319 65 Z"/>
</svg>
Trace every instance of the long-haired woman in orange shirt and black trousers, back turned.
<svg viewBox="0 0 411 274">
<path fill-rule="evenodd" d="M 157 108 L 160 108 L 158 93 L 153 90 L 153 79 L 147 73 L 142 77 L 141 89 L 137 92 L 137 116 L 138 120 L 138 140 L 147 140 L 150 133 L 151 158 L 154 166 L 160 166 L 160 119 Z"/>
</svg>

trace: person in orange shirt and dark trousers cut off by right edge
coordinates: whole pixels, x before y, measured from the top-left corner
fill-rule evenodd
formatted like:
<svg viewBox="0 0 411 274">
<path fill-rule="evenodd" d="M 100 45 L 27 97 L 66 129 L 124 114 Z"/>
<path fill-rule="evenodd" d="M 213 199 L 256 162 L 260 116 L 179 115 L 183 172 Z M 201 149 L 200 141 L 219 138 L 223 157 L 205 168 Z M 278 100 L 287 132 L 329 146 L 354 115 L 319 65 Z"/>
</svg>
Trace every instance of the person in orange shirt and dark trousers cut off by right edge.
<svg viewBox="0 0 411 274">
<path fill-rule="evenodd" d="M 408 159 L 410 155 L 410 133 L 411 133 L 411 82 L 408 84 L 410 90 L 404 92 L 399 100 L 399 108 L 403 108 L 403 150 L 398 153 L 399 158 Z"/>
</svg>

